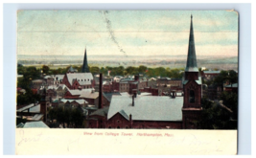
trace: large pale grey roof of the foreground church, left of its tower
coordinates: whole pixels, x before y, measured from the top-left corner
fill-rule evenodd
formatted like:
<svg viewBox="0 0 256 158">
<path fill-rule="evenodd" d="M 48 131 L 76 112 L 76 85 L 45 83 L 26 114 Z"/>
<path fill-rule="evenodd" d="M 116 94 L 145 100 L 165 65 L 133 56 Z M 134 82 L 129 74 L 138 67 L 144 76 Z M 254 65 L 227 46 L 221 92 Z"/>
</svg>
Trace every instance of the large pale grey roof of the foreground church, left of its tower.
<svg viewBox="0 0 256 158">
<path fill-rule="evenodd" d="M 130 96 L 113 96 L 107 119 L 123 110 L 133 121 L 182 121 L 183 97 L 137 96 L 131 103 Z"/>
</svg>

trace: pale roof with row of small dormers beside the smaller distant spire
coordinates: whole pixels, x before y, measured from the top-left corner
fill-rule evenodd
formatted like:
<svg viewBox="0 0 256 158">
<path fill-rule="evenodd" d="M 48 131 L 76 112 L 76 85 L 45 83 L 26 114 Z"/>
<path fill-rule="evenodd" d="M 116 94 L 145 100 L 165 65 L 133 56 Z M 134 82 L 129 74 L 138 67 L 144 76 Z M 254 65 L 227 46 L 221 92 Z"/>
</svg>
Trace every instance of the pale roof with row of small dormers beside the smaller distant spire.
<svg viewBox="0 0 256 158">
<path fill-rule="evenodd" d="M 67 74 L 67 79 L 70 85 L 77 79 L 81 85 L 89 85 L 91 84 L 91 80 L 93 79 L 91 73 L 74 73 Z"/>
</svg>

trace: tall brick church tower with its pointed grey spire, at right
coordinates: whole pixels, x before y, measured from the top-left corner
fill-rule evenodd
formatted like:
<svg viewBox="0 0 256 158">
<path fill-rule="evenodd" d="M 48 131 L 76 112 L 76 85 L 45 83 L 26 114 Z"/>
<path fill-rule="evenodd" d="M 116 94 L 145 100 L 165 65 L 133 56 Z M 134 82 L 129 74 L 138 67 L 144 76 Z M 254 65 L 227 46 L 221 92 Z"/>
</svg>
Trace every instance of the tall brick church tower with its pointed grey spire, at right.
<svg viewBox="0 0 256 158">
<path fill-rule="evenodd" d="M 201 77 L 195 49 L 193 16 L 191 15 L 187 64 L 183 77 L 184 101 L 182 107 L 182 128 L 198 128 L 201 113 Z"/>
</svg>

